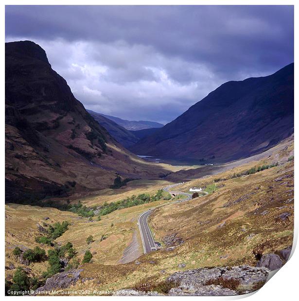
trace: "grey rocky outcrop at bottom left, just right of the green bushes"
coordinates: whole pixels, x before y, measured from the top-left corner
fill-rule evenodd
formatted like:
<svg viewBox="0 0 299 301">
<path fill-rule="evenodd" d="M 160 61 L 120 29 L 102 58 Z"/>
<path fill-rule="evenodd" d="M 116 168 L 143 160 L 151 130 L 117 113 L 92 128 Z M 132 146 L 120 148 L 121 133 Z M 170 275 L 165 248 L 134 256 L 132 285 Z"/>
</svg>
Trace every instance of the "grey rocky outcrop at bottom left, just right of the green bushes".
<svg viewBox="0 0 299 301">
<path fill-rule="evenodd" d="M 37 295 L 38 292 L 42 291 L 51 291 L 55 288 L 68 288 L 79 280 L 82 271 L 83 269 L 81 268 L 55 274 L 47 279 L 44 286 L 38 287 L 33 295 Z"/>
</svg>

